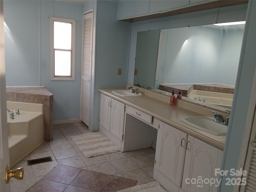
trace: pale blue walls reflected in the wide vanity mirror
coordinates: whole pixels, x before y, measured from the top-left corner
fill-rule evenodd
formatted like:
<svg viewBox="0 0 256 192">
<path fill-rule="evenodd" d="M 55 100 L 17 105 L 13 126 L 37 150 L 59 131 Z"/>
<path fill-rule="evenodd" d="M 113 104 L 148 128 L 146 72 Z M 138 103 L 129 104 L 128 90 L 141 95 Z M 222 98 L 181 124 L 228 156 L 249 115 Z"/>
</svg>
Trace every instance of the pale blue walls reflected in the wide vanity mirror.
<svg viewBox="0 0 256 192">
<path fill-rule="evenodd" d="M 142 35 L 145 33 L 147 36 Z M 142 36 L 144 42 L 151 41 L 151 39 L 146 40 L 146 37 L 150 37 L 149 33 L 159 34 L 159 30 L 138 32 L 137 48 Z M 147 54 L 146 50 L 150 45 L 144 44 L 144 54 L 138 60 L 140 54 L 136 49 L 135 69 L 144 69 L 145 73 L 134 76 L 134 84 L 154 88 L 158 88 L 161 83 L 220 83 L 234 86 L 243 33 L 244 24 L 160 30 L 159 51 L 151 49 L 152 52 Z M 156 54 L 157 58 L 149 57 Z M 143 58 L 147 58 L 147 61 L 142 62 Z M 158 62 L 153 64 L 153 60 Z M 149 67 L 151 72 L 147 73 Z M 152 74 L 152 70 L 157 70 L 157 73 Z"/>
</svg>

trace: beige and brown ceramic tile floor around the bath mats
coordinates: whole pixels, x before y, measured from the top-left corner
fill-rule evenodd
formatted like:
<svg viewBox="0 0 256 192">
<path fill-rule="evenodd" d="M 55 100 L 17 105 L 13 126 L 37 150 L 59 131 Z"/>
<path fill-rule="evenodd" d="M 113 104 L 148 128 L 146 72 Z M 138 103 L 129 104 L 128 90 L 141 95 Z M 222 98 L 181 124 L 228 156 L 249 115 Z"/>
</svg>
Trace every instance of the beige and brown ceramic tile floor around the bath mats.
<svg viewBox="0 0 256 192">
<path fill-rule="evenodd" d="M 10 180 L 11 192 L 115 191 L 113 190 L 113 183 L 130 183 L 134 185 L 133 180 L 137 180 L 136 184 L 140 185 L 154 181 L 154 149 L 147 148 L 129 152 L 116 152 L 86 158 L 73 140 L 71 140 L 70 136 L 88 132 L 90 130 L 88 130 L 84 123 L 54 125 L 54 139 L 51 142 L 44 142 L 12 168 L 15 169 L 23 166 L 24 179 Z M 46 156 L 51 156 L 53 161 L 32 166 L 27 165 L 27 160 Z M 60 182 L 58 178 L 60 175 L 65 175 L 63 174 L 65 170 L 72 170 L 74 172 L 73 177 L 70 176 L 71 181 L 64 179 L 64 182 Z M 62 174 L 56 174 L 58 171 L 62 172 Z M 84 178 L 84 174 L 91 175 L 91 178 L 94 178 L 95 174 L 100 174 L 100 178 L 104 182 L 103 184 L 102 182 L 92 184 L 93 182 L 84 181 L 81 184 L 81 179 L 79 180 L 79 178 Z M 126 182 L 124 178 L 130 179 L 129 182 Z M 43 189 L 42 186 L 47 186 L 48 188 Z M 122 188 L 118 185 L 115 186 L 117 190 Z M 124 187 L 124 185 L 122 186 Z M 49 189 L 49 187 L 52 188 Z"/>
</svg>

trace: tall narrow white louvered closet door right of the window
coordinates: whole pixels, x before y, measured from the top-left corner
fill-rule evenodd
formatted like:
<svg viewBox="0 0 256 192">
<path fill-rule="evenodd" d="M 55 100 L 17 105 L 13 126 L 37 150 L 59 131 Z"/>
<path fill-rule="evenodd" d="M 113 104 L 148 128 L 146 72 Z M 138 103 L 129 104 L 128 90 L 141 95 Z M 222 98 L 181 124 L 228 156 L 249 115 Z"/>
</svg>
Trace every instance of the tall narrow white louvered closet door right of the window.
<svg viewBox="0 0 256 192">
<path fill-rule="evenodd" d="M 83 48 L 81 69 L 80 119 L 89 126 L 90 122 L 90 80 L 92 65 L 92 19 L 93 12 L 83 16 Z"/>
</svg>

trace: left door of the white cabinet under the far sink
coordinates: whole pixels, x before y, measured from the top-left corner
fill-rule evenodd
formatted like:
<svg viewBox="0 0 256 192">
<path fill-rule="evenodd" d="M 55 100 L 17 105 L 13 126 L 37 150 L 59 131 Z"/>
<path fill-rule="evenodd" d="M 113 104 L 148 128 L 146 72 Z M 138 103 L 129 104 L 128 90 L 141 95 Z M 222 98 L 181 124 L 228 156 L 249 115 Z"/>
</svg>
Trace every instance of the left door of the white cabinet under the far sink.
<svg viewBox="0 0 256 192">
<path fill-rule="evenodd" d="M 108 131 L 110 131 L 110 103 L 110 97 L 104 94 L 100 95 L 100 125 Z"/>
</svg>

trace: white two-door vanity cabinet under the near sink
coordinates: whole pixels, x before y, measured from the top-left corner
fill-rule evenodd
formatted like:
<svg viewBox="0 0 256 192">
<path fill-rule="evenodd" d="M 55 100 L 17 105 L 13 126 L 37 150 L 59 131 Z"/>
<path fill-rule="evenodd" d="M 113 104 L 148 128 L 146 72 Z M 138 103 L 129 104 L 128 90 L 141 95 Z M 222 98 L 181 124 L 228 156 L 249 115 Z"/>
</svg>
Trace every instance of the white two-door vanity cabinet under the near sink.
<svg viewBox="0 0 256 192">
<path fill-rule="evenodd" d="M 187 184 L 190 179 L 216 178 L 222 151 L 168 124 L 160 123 L 156 142 L 154 179 L 172 192 L 214 192 L 209 184 Z M 188 180 L 186 180 L 189 178 Z M 186 183 L 187 182 L 187 183 Z"/>
</svg>

